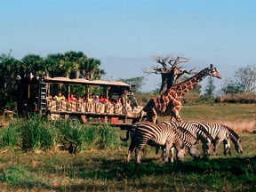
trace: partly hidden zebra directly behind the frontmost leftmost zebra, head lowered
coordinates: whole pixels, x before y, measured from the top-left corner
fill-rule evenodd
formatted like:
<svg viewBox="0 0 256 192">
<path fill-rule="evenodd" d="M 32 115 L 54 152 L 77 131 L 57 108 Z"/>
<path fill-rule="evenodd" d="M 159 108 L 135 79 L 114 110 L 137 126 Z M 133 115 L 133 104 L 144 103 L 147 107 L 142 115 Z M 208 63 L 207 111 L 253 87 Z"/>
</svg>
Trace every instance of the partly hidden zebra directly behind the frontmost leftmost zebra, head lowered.
<svg viewBox="0 0 256 192">
<path fill-rule="evenodd" d="M 178 129 L 177 123 L 174 122 L 162 122 L 161 124 L 166 124 L 169 126 L 170 129 L 172 129 L 177 135 L 181 142 L 183 142 L 184 146 L 188 148 L 188 153 L 193 158 L 200 158 L 200 151 L 199 148 L 197 148 L 196 143 L 196 137 L 194 137 L 190 132 L 188 132 L 185 129 Z M 158 148 L 156 148 L 156 152 L 158 151 Z M 173 158 L 173 148 L 171 156 Z M 172 160 L 173 161 L 173 160 Z"/>
</svg>

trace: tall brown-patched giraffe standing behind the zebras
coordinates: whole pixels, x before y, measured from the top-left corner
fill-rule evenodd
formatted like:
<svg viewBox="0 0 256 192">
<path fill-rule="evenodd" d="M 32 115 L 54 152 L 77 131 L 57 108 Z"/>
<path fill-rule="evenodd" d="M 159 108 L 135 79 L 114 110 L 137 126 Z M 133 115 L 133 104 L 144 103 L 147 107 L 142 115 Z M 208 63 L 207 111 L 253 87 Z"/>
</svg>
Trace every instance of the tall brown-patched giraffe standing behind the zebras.
<svg viewBox="0 0 256 192">
<path fill-rule="evenodd" d="M 162 94 L 148 101 L 148 104 L 140 112 L 140 121 L 147 113 L 147 121 L 156 124 L 158 116 L 171 116 L 171 121 L 181 122 L 180 109 L 182 108 L 181 99 L 182 96 L 192 90 L 197 84 L 199 84 L 205 76 L 212 76 L 221 78 L 216 68 L 210 65 L 210 68 L 204 68 L 195 76 L 190 77 L 180 84 L 172 85 L 172 87 Z"/>
</svg>

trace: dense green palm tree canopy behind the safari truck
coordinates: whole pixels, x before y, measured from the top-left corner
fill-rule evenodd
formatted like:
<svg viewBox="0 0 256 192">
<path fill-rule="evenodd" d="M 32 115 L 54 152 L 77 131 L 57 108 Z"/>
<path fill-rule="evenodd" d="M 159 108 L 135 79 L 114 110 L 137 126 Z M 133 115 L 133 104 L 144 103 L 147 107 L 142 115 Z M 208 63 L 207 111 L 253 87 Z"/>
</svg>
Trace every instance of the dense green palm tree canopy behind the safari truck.
<svg viewBox="0 0 256 192">
<path fill-rule="evenodd" d="M 67 76 L 70 78 L 100 79 L 105 75 L 100 60 L 88 58 L 84 52 L 52 53 L 46 57 L 28 54 L 21 60 L 12 57 L 12 51 L 0 55 L 0 107 L 13 102 L 16 76 Z"/>
</svg>

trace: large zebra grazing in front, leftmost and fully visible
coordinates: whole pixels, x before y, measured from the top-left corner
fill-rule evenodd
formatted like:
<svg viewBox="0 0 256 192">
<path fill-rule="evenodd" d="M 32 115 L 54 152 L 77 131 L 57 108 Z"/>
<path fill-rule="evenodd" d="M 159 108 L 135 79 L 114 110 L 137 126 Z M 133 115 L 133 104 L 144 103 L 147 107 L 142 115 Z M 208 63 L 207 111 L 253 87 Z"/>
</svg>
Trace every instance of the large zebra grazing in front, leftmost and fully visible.
<svg viewBox="0 0 256 192">
<path fill-rule="evenodd" d="M 185 147 L 177 139 L 175 132 L 164 124 L 153 124 L 151 122 L 140 122 L 133 125 L 132 130 L 134 131 L 132 141 L 129 146 L 127 161 L 130 161 L 132 151 L 135 150 L 136 163 L 140 164 L 140 151 L 145 147 L 146 144 L 153 147 L 162 147 L 165 149 L 164 162 L 168 162 L 169 152 L 172 146 L 177 149 L 178 159 L 184 159 Z M 129 132 L 126 132 L 126 138 L 121 140 L 129 139 Z"/>
</svg>

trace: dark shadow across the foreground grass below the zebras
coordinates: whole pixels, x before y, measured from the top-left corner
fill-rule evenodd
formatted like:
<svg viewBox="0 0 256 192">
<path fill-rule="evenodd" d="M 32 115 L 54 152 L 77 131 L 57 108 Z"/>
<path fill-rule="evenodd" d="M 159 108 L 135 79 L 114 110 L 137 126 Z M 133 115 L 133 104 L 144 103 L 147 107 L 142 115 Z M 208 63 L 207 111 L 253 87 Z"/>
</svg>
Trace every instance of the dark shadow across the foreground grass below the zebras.
<svg viewBox="0 0 256 192">
<path fill-rule="evenodd" d="M 255 189 L 256 183 L 256 156 L 248 158 L 216 158 L 199 159 L 184 163 L 159 162 L 156 158 L 142 161 L 141 164 L 127 163 L 122 160 L 108 160 L 95 158 L 92 164 L 85 163 L 83 159 L 70 163 L 65 170 L 65 176 L 71 180 L 84 180 L 81 184 L 68 183 L 66 186 L 51 186 L 49 183 L 38 180 L 23 180 L 15 183 L 18 188 L 40 188 L 56 191 L 108 191 L 124 190 L 124 188 L 169 188 L 175 189 L 179 182 L 185 188 L 210 188 L 219 184 L 243 186 L 243 189 Z M 36 170 L 33 170 L 36 174 Z M 62 174 L 52 170 L 52 174 Z M 147 178 L 147 180 L 145 180 Z M 150 178 L 148 181 L 148 178 Z M 176 179 L 179 178 L 177 181 Z M 89 182 L 88 180 L 91 180 Z M 102 184 L 102 180 L 104 180 Z M 151 186 L 151 182 L 153 184 Z M 128 182 L 128 184 L 126 183 Z M 136 182 L 135 182 L 136 181 Z M 115 183 L 119 185 L 115 185 Z M 231 183 L 232 182 L 232 183 Z M 227 184 L 228 183 L 228 184 Z M 186 187 L 187 186 L 187 187 Z M 206 186 L 206 187 L 205 187 Z M 218 189 L 218 188 L 217 188 Z"/>
</svg>

